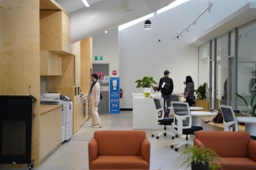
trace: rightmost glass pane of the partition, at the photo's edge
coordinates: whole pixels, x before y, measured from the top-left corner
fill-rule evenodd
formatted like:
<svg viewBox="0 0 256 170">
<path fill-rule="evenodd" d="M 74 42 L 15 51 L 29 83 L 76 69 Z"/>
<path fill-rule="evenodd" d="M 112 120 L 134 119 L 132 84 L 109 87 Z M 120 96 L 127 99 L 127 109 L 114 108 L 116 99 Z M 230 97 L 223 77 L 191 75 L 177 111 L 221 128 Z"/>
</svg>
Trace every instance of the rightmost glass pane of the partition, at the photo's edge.
<svg viewBox="0 0 256 170">
<path fill-rule="evenodd" d="M 256 21 L 238 29 L 237 92 L 248 103 L 255 94 L 256 84 Z M 256 103 L 256 99 L 254 100 Z M 246 109 L 244 101 L 238 98 L 238 109 Z"/>
</svg>

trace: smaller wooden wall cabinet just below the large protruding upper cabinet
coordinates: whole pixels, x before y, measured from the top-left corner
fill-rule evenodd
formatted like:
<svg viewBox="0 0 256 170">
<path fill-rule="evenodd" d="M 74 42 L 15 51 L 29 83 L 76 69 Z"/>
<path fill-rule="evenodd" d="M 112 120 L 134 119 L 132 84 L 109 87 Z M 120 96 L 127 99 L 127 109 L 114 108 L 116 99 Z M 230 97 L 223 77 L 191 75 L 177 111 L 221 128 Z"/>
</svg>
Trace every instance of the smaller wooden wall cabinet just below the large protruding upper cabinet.
<svg viewBox="0 0 256 170">
<path fill-rule="evenodd" d="M 61 75 L 61 54 L 40 51 L 40 75 Z"/>
</svg>

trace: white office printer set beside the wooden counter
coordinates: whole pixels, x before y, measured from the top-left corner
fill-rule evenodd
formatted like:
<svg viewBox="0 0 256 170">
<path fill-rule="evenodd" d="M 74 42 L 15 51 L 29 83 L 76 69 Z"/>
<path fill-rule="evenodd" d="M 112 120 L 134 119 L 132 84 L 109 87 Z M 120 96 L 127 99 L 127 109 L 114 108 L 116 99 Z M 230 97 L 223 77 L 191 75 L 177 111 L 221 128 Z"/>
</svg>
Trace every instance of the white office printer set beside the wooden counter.
<svg viewBox="0 0 256 170">
<path fill-rule="evenodd" d="M 48 95 L 49 94 L 49 95 Z M 54 95 L 55 94 L 55 95 Z M 66 141 L 72 137 L 72 118 L 73 118 L 73 103 L 72 101 L 62 100 L 60 93 L 44 93 L 41 95 L 42 105 L 62 105 L 62 140 Z"/>
</svg>

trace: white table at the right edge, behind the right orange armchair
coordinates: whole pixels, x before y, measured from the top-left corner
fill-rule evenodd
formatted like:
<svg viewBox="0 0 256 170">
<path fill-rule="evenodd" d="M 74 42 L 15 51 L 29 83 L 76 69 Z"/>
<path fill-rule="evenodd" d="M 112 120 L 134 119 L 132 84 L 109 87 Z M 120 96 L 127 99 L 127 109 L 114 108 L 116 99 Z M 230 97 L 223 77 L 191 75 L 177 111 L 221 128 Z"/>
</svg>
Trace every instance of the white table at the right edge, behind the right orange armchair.
<svg viewBox="0 0 256 170">
<path fill-rule="evenodd" d="M 256 136 L 256 117 L 236 117 L 238 122 L 244 122 L 245 131 Z"/>
</svg>

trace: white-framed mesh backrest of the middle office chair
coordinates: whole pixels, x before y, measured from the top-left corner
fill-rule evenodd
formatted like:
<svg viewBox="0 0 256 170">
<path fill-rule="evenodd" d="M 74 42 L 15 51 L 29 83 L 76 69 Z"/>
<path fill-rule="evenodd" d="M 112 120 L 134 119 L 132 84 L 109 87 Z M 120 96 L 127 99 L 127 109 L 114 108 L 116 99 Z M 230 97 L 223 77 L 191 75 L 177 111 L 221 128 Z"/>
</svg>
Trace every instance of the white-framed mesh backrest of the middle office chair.
<svg viewBox="0 0 256 170">
<path fill-rule="evenodd" d="M 177 134 L 182 134 L 182 129 L 190 129 L 192 126 L 192 116 L 188 103 L 172 101 L 173 126 L 177 128 Z"/>
</svg>

